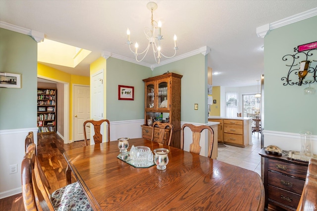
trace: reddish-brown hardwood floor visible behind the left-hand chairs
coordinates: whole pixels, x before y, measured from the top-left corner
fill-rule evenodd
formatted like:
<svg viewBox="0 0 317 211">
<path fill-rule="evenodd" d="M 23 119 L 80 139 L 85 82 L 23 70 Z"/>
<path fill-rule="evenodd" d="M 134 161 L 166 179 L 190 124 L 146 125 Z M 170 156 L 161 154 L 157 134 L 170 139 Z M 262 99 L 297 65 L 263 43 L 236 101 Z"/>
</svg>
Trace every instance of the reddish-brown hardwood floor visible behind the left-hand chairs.
<svg viewBox="0 0 317 211">
<path fill-rule="evenodd" d="M 38 158 L 50 182 L 50 193 L 66 185 L 67 163 L 63 153 L 69 149 L 83 146 L 85 146 L 84 141 L 64 144 L 56 133 L 38 133 Z M 76 181 L 76 179 L 72 177 L 72 181 Z M 0 211 L 24 211 L 22 194 L 0 199 Z"/>
</svg>

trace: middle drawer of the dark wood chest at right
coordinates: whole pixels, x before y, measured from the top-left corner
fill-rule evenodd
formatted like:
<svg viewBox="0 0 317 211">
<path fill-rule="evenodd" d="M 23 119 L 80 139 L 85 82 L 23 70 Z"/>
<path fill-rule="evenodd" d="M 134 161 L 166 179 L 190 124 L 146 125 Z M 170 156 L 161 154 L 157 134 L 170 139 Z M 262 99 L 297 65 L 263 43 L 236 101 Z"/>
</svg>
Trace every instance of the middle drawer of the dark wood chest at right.
<svg viewBox="0 0 317 211">
<path fill-rule="evenodd" d="M 302 194 L 305 180 L 286 176 L 276 172 L 268 171 L 268 184 L 288 190 L 297 194 Z"/>
</svg>

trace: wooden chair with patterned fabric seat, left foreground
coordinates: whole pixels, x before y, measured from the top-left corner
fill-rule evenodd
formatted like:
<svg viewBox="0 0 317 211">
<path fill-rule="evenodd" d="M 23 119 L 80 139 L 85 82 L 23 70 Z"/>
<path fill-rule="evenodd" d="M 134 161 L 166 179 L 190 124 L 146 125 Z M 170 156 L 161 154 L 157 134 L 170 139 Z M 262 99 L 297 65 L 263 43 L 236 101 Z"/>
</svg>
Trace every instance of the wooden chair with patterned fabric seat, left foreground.
<svg viewBox="0 0 317 211">
<path fill-rule="evenodd" d="M 85 193 L 78 182 L 62 187 L 52 194 L 39 173 L 36 145 L 29 144 L 21 163 L 23 205 L 26 211 L 92 211 Z"/>
</svg>

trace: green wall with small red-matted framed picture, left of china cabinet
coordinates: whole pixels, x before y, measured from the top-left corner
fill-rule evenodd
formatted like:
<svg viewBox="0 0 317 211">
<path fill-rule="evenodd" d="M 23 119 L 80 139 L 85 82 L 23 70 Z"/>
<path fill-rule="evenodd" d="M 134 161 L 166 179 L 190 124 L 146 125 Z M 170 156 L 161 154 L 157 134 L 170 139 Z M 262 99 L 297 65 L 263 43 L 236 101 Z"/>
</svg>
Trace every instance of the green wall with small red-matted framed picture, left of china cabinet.
<svg viewBox="0 0 317 211">
<path fill-rule="evenodd" d="M 106 60 L 106 118 L 109 121 L 144 119 L 144 82 L 149 67 L 109 57 Z M 134 100 L 118 100 L 118 85 L 134 86 Z"/>
</svg>

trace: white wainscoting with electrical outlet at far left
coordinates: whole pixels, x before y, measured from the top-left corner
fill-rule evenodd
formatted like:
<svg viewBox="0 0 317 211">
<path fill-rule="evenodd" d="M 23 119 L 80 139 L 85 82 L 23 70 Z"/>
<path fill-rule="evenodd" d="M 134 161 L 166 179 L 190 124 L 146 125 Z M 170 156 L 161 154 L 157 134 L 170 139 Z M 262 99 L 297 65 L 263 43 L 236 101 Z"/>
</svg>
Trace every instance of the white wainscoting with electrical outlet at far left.
<svg viewBox="0 0 317 211">
<path fill-rule="evenodd" d="M 33 131 L 37 144 L 37 127 L 0 130 L 0 199 L 22 192 L 21 162 L 25 136 Z M 9 174 L 9 166 L 17 164 L 17 173 Z"/>
</svg>

